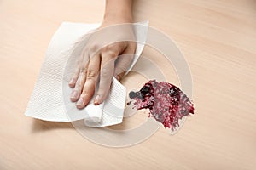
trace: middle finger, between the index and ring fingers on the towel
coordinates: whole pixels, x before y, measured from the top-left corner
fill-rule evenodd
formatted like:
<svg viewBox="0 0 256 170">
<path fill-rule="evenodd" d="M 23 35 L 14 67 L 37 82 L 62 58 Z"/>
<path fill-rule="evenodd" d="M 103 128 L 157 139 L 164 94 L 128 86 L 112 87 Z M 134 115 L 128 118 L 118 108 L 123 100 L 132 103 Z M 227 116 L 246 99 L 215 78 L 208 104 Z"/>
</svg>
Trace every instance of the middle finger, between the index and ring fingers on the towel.
<svg viewBox="0 0 256 170">
<path fill-rule="evenodd" d="M 88 65 L 86 81 L 84 83 L 82 94 L 80 95 L 79 101 L 77 102 L 77 107 L 79 109 L 83 109 L 86 105 L 88 105 L 95 92 L 100 65 L 100 54 L 96 54 L 93 58 L 90 59 Z"/>
</svg>

